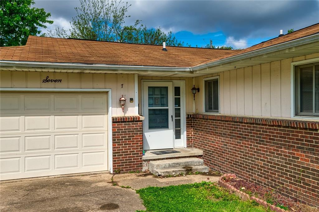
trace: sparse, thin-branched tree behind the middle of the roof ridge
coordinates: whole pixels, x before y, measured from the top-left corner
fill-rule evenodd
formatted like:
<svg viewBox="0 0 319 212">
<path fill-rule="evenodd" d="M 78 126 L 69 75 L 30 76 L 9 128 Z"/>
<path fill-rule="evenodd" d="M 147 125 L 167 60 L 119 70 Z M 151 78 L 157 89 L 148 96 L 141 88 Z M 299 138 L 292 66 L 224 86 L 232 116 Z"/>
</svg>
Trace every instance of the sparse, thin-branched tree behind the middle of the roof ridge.
<svg viewBox="0 0 319 212">
<path fill-rule="evenodd" d="M 141 24 L 141 20 L 126 26 L 125 19 L 130 18 L 130 15 L 126 13 L 130 6 L 122 0 L 80 0 L 80 7 L 75 8 L 77 15 L 70 21 L 71 28 L 68 30 L 56 28 L 55 31 L 49 31 L 49 36 L 141 44 L 166 42 L 170 46 L 184 45 L 184 42 L 178 41 L 172 32 L 166 34 L 160 27 L 147 28 Z"/>
</svg>

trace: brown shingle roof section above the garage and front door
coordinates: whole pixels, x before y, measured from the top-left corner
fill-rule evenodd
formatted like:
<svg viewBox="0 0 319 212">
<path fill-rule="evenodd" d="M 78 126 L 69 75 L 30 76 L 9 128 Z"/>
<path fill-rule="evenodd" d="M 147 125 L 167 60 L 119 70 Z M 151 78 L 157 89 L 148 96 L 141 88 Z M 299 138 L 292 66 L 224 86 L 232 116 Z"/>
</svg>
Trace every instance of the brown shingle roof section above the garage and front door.
<svg viewBox="0 0 319 212">
<path fill-rule="evenodd" d="M 1 60 L 191 67 L 236 50 L 142 45 L 29 36 L 26 46 L 3 47 Z"/>
</svg>

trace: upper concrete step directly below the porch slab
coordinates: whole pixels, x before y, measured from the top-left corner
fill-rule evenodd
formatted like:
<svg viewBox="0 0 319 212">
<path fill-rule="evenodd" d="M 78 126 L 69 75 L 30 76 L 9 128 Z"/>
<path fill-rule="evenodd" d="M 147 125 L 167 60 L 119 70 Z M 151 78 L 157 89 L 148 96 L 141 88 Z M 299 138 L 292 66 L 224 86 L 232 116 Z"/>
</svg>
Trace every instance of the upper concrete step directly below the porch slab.
<svg viewBox="0 0 319 212">
<path fill-rule="evenodd" d="M 155 169 L 167 169 L 172 167 L 200 166 L 204 165 L 202 159 L 196 157 L 167 159 L 159 161 L 150 161 L 149 170 L 155 174 Z"/>
</svg>

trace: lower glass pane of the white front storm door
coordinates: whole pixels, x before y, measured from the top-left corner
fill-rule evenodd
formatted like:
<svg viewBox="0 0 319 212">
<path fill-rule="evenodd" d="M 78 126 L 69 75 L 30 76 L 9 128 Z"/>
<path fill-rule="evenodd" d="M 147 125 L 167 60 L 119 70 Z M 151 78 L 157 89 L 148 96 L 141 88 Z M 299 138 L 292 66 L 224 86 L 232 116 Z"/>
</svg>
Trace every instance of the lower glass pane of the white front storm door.
<svg viewBox="0 0 319 212">
<path fill-rule="evenodd" d="M 148 128 L 168 128 L 168 109 L 148 109 Z"/>
</svg>

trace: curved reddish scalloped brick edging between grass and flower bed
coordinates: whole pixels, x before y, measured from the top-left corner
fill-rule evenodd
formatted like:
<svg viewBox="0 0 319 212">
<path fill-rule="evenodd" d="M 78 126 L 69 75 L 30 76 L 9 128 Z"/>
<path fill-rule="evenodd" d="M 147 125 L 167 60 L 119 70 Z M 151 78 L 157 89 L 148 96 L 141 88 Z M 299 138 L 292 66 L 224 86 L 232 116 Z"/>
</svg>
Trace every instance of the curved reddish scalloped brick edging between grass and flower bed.
<svg viewBox="0 0 319 212">
<path fill-rule="evenodd" d="M 223 188 L 225 188 L 226 190 L 228 190 L 230 193 L 234 193 L 236 196 L 240 197 L 243 201 L 247 201 L 247 200 L 252 200 L 252 201 L 255 201 L 257 202 L 259 205 L 262 205 L 263 207 L 265 208 L 269 208 L 271 209 L 272 211 L 275 211 L 275 212 L 286 212 L 286 210 L 282 209 L 282 208 L 279 208 L 279 207 L 276 207 L 275 205 L 271 205 L 259 198 L 256 198 L 256 197 L 249 197 L 249 195 L 247 193 L 244 193 L 242 191 L 239 191 L 238 189 L 236 189 L 234 186 L 231 186 L 229 185 L 228 183 L 226 183 L 224 181 L 224 178 L 225 179 L 229 179 L 229 178 L 234 178 L 236 179 L 236 175 L 234 174 L 224 174 L 223 176 L 221 176 L 219 179 L 218 179 L 218 184 L 219 186 L 222 186 Z"/>
</svg>

